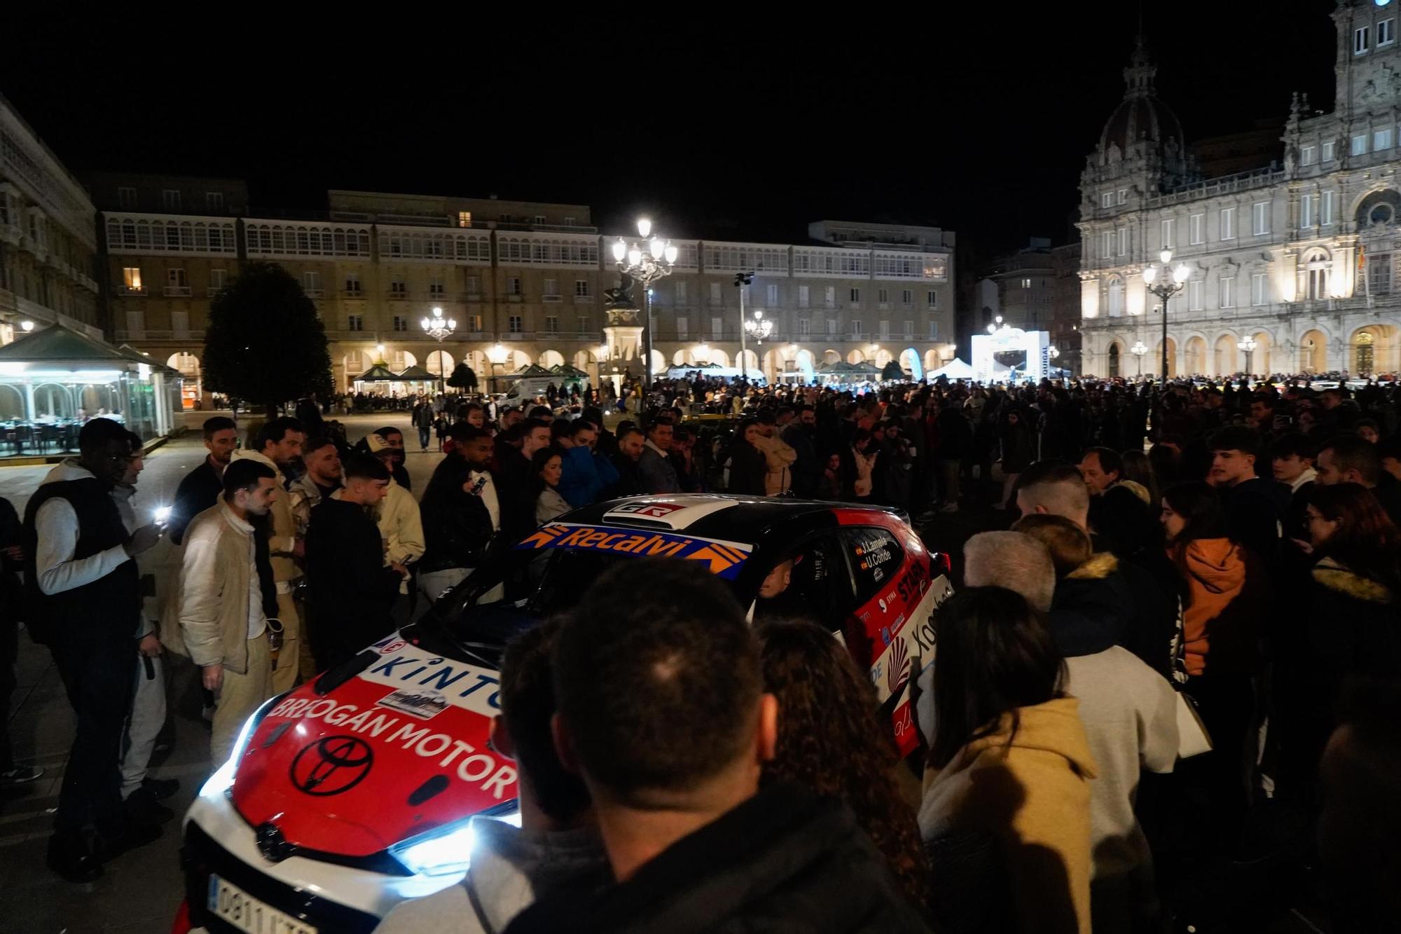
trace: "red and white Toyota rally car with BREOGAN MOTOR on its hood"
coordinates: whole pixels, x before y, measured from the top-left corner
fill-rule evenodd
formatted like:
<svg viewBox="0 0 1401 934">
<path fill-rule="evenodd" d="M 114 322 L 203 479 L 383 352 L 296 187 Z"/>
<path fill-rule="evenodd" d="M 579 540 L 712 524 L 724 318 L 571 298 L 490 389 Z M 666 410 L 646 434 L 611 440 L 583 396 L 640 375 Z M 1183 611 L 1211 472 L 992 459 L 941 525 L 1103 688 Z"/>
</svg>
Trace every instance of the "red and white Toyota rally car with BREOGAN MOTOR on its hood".
<svg viewBox="0 0 1401 934">
<path fill-rule="evenodd" d="M 177 934 L 370 931 L 395 903 L 462 878 L 472 816 L 516 816 L 516 767 L 488 743 L 510 638 L 565 610 L 611 565 L 703 561 L 762 611 L 806 610 L 869 669 L 902 753 L 911 673 L 933 661 L 947 560 L 870 506 L 636 496 L 566 513 L 503 548 L 422 618 L 249 718 L 185 819 Z M 762 613 L 761 613 L 762 614 Z"/>
</svg>

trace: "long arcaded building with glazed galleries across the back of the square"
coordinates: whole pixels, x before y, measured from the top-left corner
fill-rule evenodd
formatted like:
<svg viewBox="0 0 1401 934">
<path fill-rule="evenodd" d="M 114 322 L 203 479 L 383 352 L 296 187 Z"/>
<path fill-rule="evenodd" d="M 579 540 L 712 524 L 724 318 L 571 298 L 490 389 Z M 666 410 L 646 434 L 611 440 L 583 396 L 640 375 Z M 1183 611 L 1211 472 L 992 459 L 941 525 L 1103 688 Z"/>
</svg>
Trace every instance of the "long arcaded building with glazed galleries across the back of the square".
<svg viewBox="0 0 1401 934">
<path fill-rule="evenodd" d="M 465 360 L 483 380 L 502 377 L 500 388 L 528 363 L 591 376 L 614 363 L 602 328 L 616 237 L 591 226 L 588 206 L 331 191 L 328 212 L 277 217 L 238 210 L 247 201 L 227 184 L 202 192 L 198 182 L 188 192 L 160 180 L 91 182 L 115 338 L 181 369 L 189 404 L 202 394 L 210 299 L 254 259 L 282 264 L 315 302 L 342 390 L 380 359 L 434 374 Z M 177 189 L 178 202 L 165 194 Z M 953 358 L 953 233 L 818 222 L 810 236 L 801 245 L 671 237 L 675 269 L 653 286 L 653 369 L 738 365 L 740 271 L 757 273 L 747 316 L 775 323 L 747 348 L 750 366 L 771 379 L 835 359 L 922 370 Z M 458 325 L 441 345 L 419 324 L 433 307 Z M 640 362 L 625 363 L 640 372 Z"/>
</svg>

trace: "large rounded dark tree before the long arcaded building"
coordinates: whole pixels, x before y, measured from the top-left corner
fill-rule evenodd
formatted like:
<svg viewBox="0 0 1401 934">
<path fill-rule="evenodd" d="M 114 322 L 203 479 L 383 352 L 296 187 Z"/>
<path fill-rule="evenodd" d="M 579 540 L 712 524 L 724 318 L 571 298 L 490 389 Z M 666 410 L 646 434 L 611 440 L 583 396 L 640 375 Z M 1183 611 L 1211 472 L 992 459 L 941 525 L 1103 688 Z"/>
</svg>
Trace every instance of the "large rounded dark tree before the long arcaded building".
<svg viewBox="0 0 1401 934">
<path fill-rule="evenodd" d="M 331 353 L 317 306 L 291 273 L 249 262 L 210 303 L 205 386 L 276 418 L 307 393 L 331 395 Z"/>
</svg>

